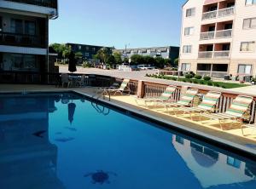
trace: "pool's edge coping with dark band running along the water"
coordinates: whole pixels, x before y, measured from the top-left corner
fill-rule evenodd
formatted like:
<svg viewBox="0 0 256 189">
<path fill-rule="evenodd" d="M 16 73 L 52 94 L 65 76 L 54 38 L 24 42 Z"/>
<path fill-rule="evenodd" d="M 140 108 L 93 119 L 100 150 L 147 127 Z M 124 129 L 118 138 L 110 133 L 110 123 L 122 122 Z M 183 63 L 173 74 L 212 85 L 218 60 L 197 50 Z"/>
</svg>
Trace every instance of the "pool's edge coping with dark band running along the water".
<svg viewBox="0 0 256 189">
<path fill-rule="evenodd" d="M 38 93 L 76 93 L 76 94 L 80 94 L 83 95 L 84 97 L 90 99 L 90 100 L 95 100 L 95 101 L 100 101 L 102 104 L 104 105 L 108 105 L 111 106 L 115 109 L 118 109 L 121 112 L 126 112 L 126 114 L 134 114 L 137 117 L 141 117 L 149 122 L 152 123 L 156 123 L 156 124 L 160 124 L 160 126 L 165 127 L 166 129 L 173 129 L 173 130 L 177 130 L 177 132 L 181 132 L 185 135 L 189 135 L 191 137 L 195 137 L 196 139 L 199 140 L 205 140 L 206 142 L 210 143 L 213 146 L 218 146 L 219 148 L 223 148 L 225 149 L 226 147 L 229 147 L 228 151 L 232 151 L 235 152 L 238 155 L 241 156 L 246 156 L 247 158 L 253 158 L 256 160 L 256 149 L 244 146 L 242 144 L 236 143 L 234 141 L 231 140 L 225 140 L 222 137 L 218 137 L 215 135 L 211 135 L 211 134 L 207 134 L 204 132 L 201 132 L 197 129 L 191 129 L 188 126 L 184 126 L 182 124 L 178 124 L 178 123 L 173 123 L 172 121 L 166 120 L 165 118 L 162 117 L 157 117 L 154 116 L 152 114 L 148 114 L 147 112 L 143 112 L 143 111 L 139 111 L 137 108 L 132 108 L 130 106 L 125 106 L 125 105 L 121 105 L 118 104 L 116 102 L 113 101 L 109 101 L 109 100 L 103 100 L 100 98 L 96 98 L 93 95 L 90 94 L 86 94 L 84 92 L 78 91 L 76 89 L 67 89 L 67 90 L 44 90 L 44 91 L 27 91 L 27 94 L 38 94 Z M 22 91 L 20 92 L 0 92 L 0 94 L 22 94 Z"/>
</svg>

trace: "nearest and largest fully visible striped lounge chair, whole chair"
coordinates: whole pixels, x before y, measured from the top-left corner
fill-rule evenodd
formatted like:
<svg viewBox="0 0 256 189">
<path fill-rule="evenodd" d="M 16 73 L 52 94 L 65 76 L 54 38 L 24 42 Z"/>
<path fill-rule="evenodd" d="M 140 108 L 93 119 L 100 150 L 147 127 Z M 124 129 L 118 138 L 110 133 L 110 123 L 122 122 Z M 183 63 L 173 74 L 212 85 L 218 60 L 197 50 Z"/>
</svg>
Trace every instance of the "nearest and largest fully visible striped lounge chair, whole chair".
<svg viewBox="0 0 256 189">
<path fill-rule="evenodd" d="M 231 121 L 231 127 L 234 121 L 237 121 L 238 119 L 244 118 L 247 111 L 249 110 L 250 106 L 253 103 L 253 97 L 251 96 L 245 96 L 245 95 L 239 95 L 236 97 L 236 99 L 232 102 L 230 108 L 224 112 L 224 113 L 212 113 L 207 114 L 203 113 L 201 114 L 202 117 L 210 118 L 211 120 L 218 120 L 219 127 L 224 130 L 223 124 L 225 121 L 230 120 Z M 201 123 L 207 123 L 208 121 L 203 121 Z"/>
</svg>

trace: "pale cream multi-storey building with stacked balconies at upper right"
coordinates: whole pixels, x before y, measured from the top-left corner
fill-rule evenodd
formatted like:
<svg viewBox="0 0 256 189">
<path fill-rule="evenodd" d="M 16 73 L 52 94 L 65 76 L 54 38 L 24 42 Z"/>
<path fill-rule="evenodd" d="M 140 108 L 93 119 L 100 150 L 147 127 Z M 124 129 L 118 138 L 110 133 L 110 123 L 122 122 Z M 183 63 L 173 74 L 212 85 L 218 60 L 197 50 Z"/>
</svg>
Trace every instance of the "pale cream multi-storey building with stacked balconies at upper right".
<svg viewBox="0 0 256 189">
<path fill-rule="evenodd" d="M 189 0 L 181 36 L 181 71 L 256 75 L 256 0 Z"/>
</svg>

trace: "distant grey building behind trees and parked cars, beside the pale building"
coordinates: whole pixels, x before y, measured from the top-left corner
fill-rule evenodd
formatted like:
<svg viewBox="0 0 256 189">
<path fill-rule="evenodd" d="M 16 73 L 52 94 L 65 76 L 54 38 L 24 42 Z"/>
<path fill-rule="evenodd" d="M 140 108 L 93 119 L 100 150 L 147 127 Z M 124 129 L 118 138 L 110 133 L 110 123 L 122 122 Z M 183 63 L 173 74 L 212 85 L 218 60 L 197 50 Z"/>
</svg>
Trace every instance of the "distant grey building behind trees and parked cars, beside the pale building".
<svg viewBox="0 0 256 189">
<path fill-rule="evenodd" d="M 179 47 L 152 47 L 152 48 L 137 48 L 137 49 L 118 49 L 123 57 L 131 58 L 134 54 L 143 56 L 149 55 L 152 57 L 162 57 L 164 59 L 176 59 L 179 53 Z"/>
</svg>

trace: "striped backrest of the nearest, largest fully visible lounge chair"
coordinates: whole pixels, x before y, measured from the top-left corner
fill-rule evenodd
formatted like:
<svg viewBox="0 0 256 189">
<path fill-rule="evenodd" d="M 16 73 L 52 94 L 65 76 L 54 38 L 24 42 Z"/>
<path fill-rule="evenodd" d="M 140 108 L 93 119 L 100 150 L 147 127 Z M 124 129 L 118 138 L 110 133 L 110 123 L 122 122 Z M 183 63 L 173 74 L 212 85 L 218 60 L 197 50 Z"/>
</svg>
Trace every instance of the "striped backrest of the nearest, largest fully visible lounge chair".
<svg viewBox="0 0 256 189">
<path fill-rule="evenodd" d="M 230 109 L 226 111 L 227 114 L 235 116 L 235 117 L 242 117 L 247 109 L 253 102 L 253 97 L 250 96 L 238 96 L 233 101 L 230 106 Z"/>
</svg>

